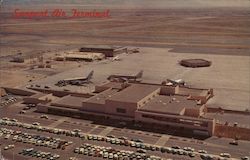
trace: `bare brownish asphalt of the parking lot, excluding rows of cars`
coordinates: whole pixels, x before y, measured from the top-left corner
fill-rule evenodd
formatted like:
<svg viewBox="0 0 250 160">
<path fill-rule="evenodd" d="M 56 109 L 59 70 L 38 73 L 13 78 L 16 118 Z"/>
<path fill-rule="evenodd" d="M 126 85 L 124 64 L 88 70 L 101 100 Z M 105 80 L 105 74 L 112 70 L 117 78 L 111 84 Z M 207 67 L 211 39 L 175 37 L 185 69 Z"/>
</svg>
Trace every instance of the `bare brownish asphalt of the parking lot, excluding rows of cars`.
<svg viewBox="0 0 250 160">
<path fill-rule="evenodd" d="M 104 126 L 104 125 L 98 125 L 93 124 L 91 121 L 88 120 L 80 120 L 80 119 L 74 119 L 69 117 L 61 117 L 56 115 L 48 115 L 48 119 L 40 118 L 42 114 L 34 112 L 35 109 L 31 108 L 30 110 L 27 110 L 25 114 L 19 114 L 20 110 L 22 110 L 25 106 L 22 104 L 16 104 L 9 107 L 2 107 L 0 109 L 0 118 L 8 117 L 10 119 L 17 119 L 18 122 L 21 123 L 27 123 L 32 124 L 34 122 L 40 123 L 40 126 L 43 127 L 51 127 L 51 128 L 57 128 L 57 129 L 64 129 L 64 130 L 74 130 L 74 129 L 80 129 L 81 133 L 84 133 L 86 135 L 101 135 L 103 137 L 106 136 L 114 136 L 116 138 L 118 137 L 127 137 L 130 139 L 139 139 L 143 141 L 145 144 L 163 144 L 164 147 L 171 148 L 173 146 L 179 146 L 181 148 L 184 147 L 191 147 L 194 148 L 195 151 L 198 150 L 206 150 L 208 153 L 213 155 L 219 155 L 220 153 L 230 153 L 233 158 L 240 158 L 243 156 L 249 156 L 249 150 L 250 150 L 250 143 L 247 141 L 240 141 L 238 146 L 230 145 L 229 142 L 230 139 L 223 139 L 223 138 L 216 138 L 211 137 L 205 141 L 201 140 L 195 140 L 190 138 L 182 138 L 182 137 L 176 137 L 176 136 L 169 136 L 169 135 L 162 135 L 159 133 L 153 133 L 153 132 L 143 132 L 128 128 L 116 128 L 116 127 L 110 127 L 110 126 Z M 13 135 L 11 135 L 8 139 L 5 139 L 4 137 L 6 135 L 2 135 L 0 137 L 0 144 L 1 144 L 1 150 L 2 154 L 9 159 L 13 159 L 13 155 L 15 159 L 37 159 L 35 157 L 27 157 L 18 154 L 23 149 L 27 148 L 33 148 L 35 150 L 43 151 L 43 152 L 51 152 L 54 154 L 60 155 L 59 159 L 69 159 L 70 157 L 76 157 L 78 159 L 102 159 L 98 157 L 93 157 L 89 155 L 84 154 L 78 154 L 74 153 L 74 149 L 77 147 L 80 147 L 84 143 L 88 143 L 95 146 L 102 146 L 102 147 L 112 147 L 116 150 L 124 150 L 124 151 L 133 151 L 136 152 L 138 148 L 126 146 L 126 145 L 117 145 L 111 142 L 107 141 L 98 141 L 93 139 L 79 139 L 78 137 L 71 137 L 66 136 L 63 134 L 53 134 L 49 132 L 41 132 L 35 129 L 27 129 L 27 128 L 20 128 L 17 126 L 8 126 L 8 125 L 1 125 L 1 128 L 7 128 L 14 131 L 21 131 L 23 133 L 28 134 L 34 134 L 44 137 L 54 137 L 54 138 L 60 138 L 65 141 L 72 142 L 71 145 L 66 146 L 64 149 L 51 149 L 44 146 L 36 146 L 34 144 L 28 144 L 28 143 L 22 143 L 22 142 L 15 142 L 13 141 Z M 165 136 L 165 138 L 162 138 Z M 162 142 L 164 141 L 164 142 Z M 7 145 L 14 144 L 15 147 L 9 150 L 4 150 L 3 148 Z M 161 157 L 163 159 L 171 158 L 171 159 L 201 159 L 199 153 L 195 155 L 195 157 L 191 158 L 189 156 L 182 155 L 182 153 L 162 153 L 161 151 L 152 151 L 147 150 L 147 154 L 149 155 L 155 155 L 158 157 Z M 181 154 L 181 155 L 179 155 Z"/>
</svg>

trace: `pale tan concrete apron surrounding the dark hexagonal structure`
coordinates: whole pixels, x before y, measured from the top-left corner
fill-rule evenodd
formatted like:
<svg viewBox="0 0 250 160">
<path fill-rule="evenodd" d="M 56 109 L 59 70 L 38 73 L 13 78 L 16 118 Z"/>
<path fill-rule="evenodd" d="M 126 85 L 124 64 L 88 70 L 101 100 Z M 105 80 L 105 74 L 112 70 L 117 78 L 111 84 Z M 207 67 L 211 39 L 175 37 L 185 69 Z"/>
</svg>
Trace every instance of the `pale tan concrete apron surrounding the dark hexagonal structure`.
<svg viewBox="0 0 250 160">
<path fill-rule="evenodd" d="M 169 49 L 140 48 L 141 53 L 120 55 L 122 61 L 100 61 L 69 70 L 46 79 L 34 82 L 53 86 L 58 80 L 76 77 L 94 70 L 94 84 L 106 81 L 110 74 L 135 74 L 144 70 L 144 82 L 161 83 L 167 78 L 187 81 L 188 85 L 197 88 L 214 88 L 215 97 L 209 106 L 227 109 L 250 109 L 250 59 L 245 56 L 229 56 L 215 54 L 173 53 Z M 185 68 L 178 64 L 183 58 L 204 58 L 212 61 L 207 68 Z M 91 84 L 92 85 L 92 84 Z M 72 90 L 81 91 L 88 87 L 68 86 Z"/>
</svg>

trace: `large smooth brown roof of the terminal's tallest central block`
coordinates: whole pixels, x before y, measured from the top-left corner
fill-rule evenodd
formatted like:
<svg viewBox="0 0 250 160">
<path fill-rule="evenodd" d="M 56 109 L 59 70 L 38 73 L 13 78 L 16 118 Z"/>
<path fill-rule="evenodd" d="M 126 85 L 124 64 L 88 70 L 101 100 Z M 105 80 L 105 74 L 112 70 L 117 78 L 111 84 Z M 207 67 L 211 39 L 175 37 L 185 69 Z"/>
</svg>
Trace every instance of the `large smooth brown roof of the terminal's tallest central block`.
<svg viewBox="0 0 250 160">
<path fill-rule="evenodd" d="M 118 92 L 108 100 L 137 103 L 159 88 L 159 86 L 153 85 L 131 84 L 131 86 Z"/>
</svg>

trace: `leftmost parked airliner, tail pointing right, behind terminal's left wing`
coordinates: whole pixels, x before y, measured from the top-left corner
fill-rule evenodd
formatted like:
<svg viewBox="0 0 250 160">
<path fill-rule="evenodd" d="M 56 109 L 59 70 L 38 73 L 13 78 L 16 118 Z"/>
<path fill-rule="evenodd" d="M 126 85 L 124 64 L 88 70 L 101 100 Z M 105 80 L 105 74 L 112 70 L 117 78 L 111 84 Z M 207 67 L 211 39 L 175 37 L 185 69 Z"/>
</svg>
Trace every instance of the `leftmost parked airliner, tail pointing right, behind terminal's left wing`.
<svg viewBox="0 0 250 160">
<path fill-rule="evenodd" d="M 93 74 L 94 74 L 94 71 L 91 71 L 87 77 L 75 77 L 75 78 L 63 79 L 63 80 L 58 81 L 55 85 L 59 87 L 66 86 L 68 84 L 80 86 L 85 83 L 90 83 L 90 79 L 92 79 Z"/>
</svg>

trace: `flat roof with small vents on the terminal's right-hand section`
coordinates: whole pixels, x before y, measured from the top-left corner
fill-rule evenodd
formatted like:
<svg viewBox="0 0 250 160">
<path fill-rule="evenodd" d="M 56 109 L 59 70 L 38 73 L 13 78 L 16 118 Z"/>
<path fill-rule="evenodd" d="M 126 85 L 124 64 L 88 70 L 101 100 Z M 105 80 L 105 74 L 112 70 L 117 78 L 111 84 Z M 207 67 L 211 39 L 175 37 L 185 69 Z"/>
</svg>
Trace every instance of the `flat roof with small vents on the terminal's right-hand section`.
<svg viewBox="0 0 250 160">
<path fill-rule="evenodd" d="M 154 97 L 144 106 L 140 107 L 138 110 L 154 113 L 164 113 L 164 114 L 174 114 L 183 115 L 185 108 L 197 108 L 194 100 L 187 100 L 185 96 L 164 96 L 159 95 Z"/>
</svg>

